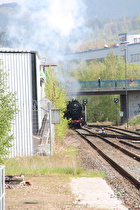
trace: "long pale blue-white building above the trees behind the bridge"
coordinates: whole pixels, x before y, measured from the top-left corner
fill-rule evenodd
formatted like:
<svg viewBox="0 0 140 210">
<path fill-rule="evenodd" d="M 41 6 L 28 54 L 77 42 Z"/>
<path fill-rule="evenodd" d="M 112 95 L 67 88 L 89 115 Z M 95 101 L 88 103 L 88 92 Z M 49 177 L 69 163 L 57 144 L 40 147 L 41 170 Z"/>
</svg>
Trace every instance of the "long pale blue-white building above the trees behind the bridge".
<svg viewBox="0 0 140 210">
<path fill-rule="evenodd" d="M 140 64 L 140 35 L 135 35 L 134 33 L 119 34 L 119 41 L 116 46 L 105 46 L 97 50 L 71 53 L 65 57 L 67 61 L 78 61 L 82 59 L 86 61 L 94 59 L 102 60 L 111 52 L 118 56 L 124 56 L 125 49 L 127 62 Z"/>
</svg>

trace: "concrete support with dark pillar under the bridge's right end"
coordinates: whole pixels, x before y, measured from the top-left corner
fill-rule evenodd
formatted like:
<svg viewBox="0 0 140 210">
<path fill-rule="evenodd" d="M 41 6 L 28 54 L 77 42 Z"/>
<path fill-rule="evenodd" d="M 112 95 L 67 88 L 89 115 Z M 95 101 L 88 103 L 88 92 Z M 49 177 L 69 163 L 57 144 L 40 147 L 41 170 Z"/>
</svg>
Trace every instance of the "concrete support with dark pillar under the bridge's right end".
<svg viewBox="0 0 140 210">
<path fill-rule="evenodd" d="M 140 114 L 140 92 L 127 92 L 127 116 L 126 116 L 126 95 L 120 95 L 121 123 L 125 123 L 136 115 Z"/>
</svg>

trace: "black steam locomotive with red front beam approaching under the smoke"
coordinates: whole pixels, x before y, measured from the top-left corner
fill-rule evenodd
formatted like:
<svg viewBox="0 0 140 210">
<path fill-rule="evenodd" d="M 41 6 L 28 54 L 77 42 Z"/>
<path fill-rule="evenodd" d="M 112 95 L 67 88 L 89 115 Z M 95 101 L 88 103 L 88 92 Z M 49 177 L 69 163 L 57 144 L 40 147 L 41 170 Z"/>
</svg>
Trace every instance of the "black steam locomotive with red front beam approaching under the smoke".
<svg viewBox="0 0 140 210">
<path fill-rule="evenodd" d="M 83 113 L 82 105 L 75 99 L 69 101 L 67 110 L 64 112 L 64 118 L 69 120 L 70 127 L 81 127 L 85 125 L 85 114 Z"/>
</svg>

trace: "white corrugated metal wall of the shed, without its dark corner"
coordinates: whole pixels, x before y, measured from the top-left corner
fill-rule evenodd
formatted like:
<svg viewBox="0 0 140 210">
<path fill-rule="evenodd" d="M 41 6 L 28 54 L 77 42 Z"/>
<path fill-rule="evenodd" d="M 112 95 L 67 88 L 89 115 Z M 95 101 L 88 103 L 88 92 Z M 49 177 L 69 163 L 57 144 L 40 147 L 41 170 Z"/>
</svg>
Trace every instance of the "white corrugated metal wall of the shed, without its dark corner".
<svg viewBox="0 0 140 210">
<path fill-rule="evenodd" d="M 35 61 L 32 58 L 33 53 L 31 52 L 0 51 L 0 60 L 3 62 L 3 68 L 9 72 L 10 91 L 16 92 L 19 109 L 15 125 L 13 126 L 15 138 L 13 147 L 10 148 L 10 157 L 30 156 L 33 154 L 32 70 L 33 62 Z M 34 59 L 37 59 L 36 53 L 34 54 Z M 34 74 L 36 74 L 36 71 L 34 71 Z"/>
</svg>

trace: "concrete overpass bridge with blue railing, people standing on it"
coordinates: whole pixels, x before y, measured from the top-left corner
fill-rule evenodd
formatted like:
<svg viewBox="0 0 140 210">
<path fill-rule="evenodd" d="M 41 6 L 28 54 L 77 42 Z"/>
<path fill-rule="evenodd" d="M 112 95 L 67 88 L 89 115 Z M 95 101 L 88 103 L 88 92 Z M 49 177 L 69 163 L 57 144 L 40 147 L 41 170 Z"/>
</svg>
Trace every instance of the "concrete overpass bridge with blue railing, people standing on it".
<svg viewBox="0 0 140 210">
<path fill-rule="evenodd" d="M 140 80 L 104 80 L 68 82 L 68 96 L 120 95 L 121 122 L 140 114 Z M 78 90 L 78 91 L 77 91 Z"/>
</svg>

